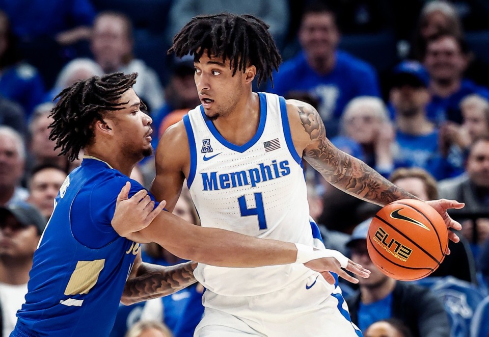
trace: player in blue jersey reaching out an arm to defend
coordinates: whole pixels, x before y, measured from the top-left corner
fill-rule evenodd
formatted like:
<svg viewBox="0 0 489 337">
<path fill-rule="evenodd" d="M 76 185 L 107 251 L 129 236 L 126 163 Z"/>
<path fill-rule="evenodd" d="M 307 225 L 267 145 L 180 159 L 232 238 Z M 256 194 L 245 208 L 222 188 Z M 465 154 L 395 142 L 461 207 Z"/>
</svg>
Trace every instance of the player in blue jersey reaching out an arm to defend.
<svg viewBox="0 0 489 337">
<path fill-rule="evenodd" d="M 153 210 L 154 198 L 128 178 L 134 165 L 152 152 L 151 118 L 141 111 L 144 105 L 132 89 L 136 76 L 94 76 L 58 96 L 50 138 L 70 160 L 81 149 L 85 157 L 55 199 L 11 336 L 105 337 L 121 297 L 132 303 L 195 282 L 193 262 L 168 268 L 142 263 L 144 242 L 214 266 L 297 262 L 324 274 L 332 270 L 350 277 L 343 267 L 368 276 L 336 251 L 202 228 L 161 212 L 162 203 Z"/>
</svg>

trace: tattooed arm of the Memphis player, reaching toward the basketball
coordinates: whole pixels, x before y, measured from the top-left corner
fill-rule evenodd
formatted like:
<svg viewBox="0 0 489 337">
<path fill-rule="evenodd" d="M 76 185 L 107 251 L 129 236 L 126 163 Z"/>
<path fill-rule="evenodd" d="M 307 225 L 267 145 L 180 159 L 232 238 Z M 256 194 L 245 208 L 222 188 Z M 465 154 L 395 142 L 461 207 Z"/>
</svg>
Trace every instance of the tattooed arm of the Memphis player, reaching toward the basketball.
<svg viewBox="0 0 489 337">
<path fill-rule="evenodd" d="M 321 117 L 309 105 L 297 106 L 305 131 L 312 145 L 305 150 L 305 159 L 332 185 L 362 199 L 385 205 L 404 198 L 415 198 L 401 190 L 361 160 L 338 150 L 326 138 Z"/>
</svg>

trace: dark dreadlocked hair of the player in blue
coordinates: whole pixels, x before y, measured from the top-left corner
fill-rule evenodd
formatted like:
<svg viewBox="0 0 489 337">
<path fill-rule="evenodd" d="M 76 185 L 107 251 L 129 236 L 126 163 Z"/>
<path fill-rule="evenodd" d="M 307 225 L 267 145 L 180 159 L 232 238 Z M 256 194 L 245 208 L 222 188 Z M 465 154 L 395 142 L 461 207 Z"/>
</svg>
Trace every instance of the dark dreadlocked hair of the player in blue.
<svg viewBox="0 0 489 337">
<path fill-rule="evenodd" d="M 137 73 L 125 75 L 122 72 L 104 76 L 93 76 L 73 83 L 64 89 L 51 109 L 49 139 L 56 141 L 55 149 L 61 148 L 60 155 L 68 155 L 70 161 L 78 159 L 78 153 L 93 140 L 92 124 L 111 111 L 124 109 L 127 102 L 117 101 L 136 82 Z"/>
</svg>

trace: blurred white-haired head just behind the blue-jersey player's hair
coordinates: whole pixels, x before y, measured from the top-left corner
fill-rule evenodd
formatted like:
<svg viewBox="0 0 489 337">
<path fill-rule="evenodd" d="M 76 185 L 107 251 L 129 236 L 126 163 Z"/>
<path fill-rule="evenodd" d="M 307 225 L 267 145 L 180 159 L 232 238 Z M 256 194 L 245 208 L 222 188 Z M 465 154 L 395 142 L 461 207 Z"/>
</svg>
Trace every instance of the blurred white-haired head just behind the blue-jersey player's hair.
<svg viewBox="0 0 489 337">
<path fill-rule="evenodd" d="M 44 96 L 44 101 L 52 102 L 63 89 L 78 80 L 86 80 L 89 77 L 101 75 L 103 75 L 103 70 L 95 61 L 85 58 L 74 59 L 61 69 L 55 85 Z"/>
</svg>

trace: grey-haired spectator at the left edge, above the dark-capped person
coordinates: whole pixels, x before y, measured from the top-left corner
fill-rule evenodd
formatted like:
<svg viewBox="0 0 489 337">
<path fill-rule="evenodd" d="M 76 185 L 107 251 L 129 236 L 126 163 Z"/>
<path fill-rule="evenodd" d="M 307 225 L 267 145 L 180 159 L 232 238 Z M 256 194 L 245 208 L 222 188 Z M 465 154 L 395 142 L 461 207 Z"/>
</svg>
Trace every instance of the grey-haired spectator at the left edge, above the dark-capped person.
<svg viewBox="0 0 489 337">
<path fill-rule="evenodd" d="M 9 126 L 0 126 L 0 206 L 24 201 L 29 192 L 20 186 L 24 175 L 25 143 Z"/>
</svg>

